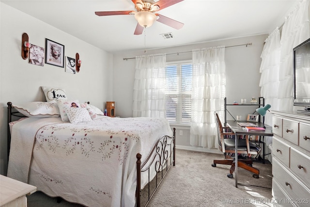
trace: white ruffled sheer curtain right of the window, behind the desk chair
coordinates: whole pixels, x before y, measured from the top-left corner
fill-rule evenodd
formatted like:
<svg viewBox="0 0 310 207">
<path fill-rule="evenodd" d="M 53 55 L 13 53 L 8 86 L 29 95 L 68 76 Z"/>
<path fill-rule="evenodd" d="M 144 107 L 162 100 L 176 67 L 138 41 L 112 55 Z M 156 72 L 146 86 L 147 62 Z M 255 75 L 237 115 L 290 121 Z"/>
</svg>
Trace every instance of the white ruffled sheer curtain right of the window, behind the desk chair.
<svg viewBox="0 0 310 207">
<path fill-rule="evenodd" d="M 225 47 L 193 50 L 190 144 L 217 148 L 214 111 L 224 117 Z"/>
</svg>

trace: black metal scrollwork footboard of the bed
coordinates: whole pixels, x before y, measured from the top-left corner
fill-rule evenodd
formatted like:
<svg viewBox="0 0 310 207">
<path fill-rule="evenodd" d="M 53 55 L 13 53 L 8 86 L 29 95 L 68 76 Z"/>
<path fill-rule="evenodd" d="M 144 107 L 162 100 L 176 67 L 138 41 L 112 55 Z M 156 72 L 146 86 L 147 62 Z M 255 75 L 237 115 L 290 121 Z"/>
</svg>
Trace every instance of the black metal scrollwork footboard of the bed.
<svg viewBox="0 0 310 207">
<path fill-rule="evenodd" d="M 173 137 L 162 136 L 153 147 L 150 155 L 141 164 L 140 153 L 137 154 L 137 189 L 136 204 L 137 207 L 147 206 L 155 194 L 155 191 L 167 175 L 171 166 L 175 166 L 175 128 L 173 128 Z M 155 177 L 151 177 L 151 173 L 155 171 Z M 148 184 L 144 187 L 146 196 L 141 204 L 141 173 L 148 174 Z M 151 190 L 151 184 L 153 186 Z M 147 188 L 147 189 L 146 189 Z"/>
</svg>

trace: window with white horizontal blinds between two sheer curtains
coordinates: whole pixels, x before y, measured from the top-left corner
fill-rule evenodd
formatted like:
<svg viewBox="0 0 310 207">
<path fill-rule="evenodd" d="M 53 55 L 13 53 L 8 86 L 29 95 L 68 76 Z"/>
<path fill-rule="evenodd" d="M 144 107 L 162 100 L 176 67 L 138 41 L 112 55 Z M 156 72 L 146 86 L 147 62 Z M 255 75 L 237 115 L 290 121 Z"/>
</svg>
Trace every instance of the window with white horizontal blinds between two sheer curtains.
<svg viewBox="0 0 310 207">
<path fill-rule="evenodd" d="M 191 116 L 192 62 L 166 65 L 166 117 L 173 124 L 189 124 Z"/>
</svg>

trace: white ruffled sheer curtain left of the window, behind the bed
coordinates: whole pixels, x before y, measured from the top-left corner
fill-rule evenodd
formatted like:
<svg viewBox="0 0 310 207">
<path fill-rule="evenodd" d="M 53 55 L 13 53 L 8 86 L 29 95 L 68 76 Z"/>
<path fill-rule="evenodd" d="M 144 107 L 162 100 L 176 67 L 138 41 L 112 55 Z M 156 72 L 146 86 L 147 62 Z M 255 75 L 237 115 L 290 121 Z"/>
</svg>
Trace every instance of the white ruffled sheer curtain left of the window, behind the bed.
<svg viewBox="0 0 310 207">
<path fill-rule="evenodd" d="M 133 117 L 166 118 L 166 54 L 136 57 Z"/>
</svg>

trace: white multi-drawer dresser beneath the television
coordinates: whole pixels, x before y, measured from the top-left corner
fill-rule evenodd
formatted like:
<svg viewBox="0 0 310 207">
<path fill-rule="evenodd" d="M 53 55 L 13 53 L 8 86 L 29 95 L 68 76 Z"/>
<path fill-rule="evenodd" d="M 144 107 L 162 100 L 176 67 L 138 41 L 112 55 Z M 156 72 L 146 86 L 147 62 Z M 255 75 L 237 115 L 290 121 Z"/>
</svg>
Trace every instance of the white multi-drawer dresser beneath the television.
<svg viewBox="0 0 310 207">
<path fill-rule="evenodd" d="M 310 114 L 271 111 L 274 206 L 310 206 Z"/>
</svg>

